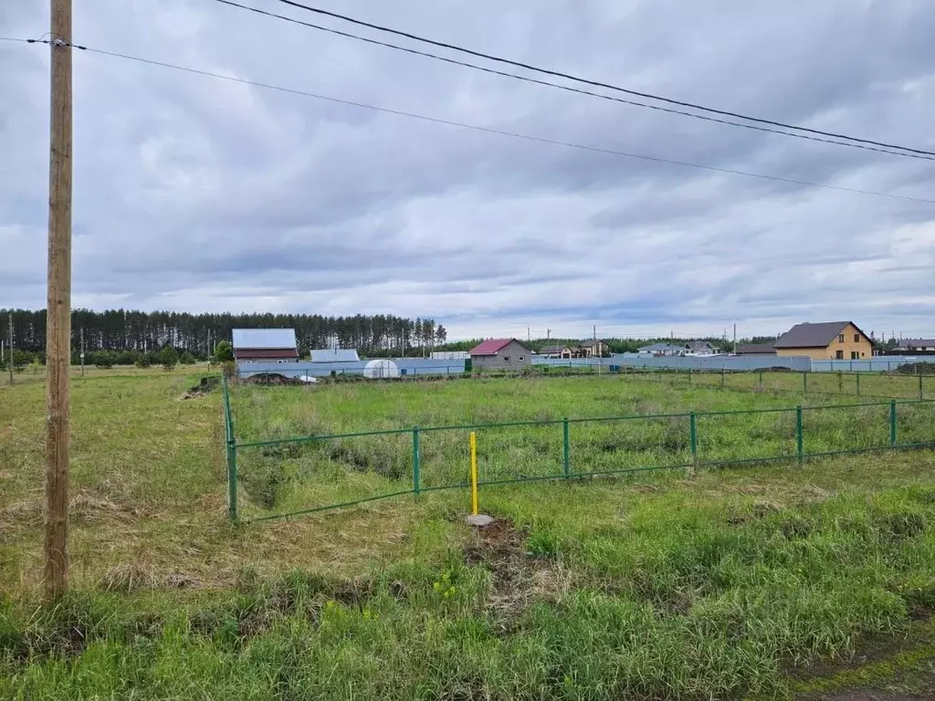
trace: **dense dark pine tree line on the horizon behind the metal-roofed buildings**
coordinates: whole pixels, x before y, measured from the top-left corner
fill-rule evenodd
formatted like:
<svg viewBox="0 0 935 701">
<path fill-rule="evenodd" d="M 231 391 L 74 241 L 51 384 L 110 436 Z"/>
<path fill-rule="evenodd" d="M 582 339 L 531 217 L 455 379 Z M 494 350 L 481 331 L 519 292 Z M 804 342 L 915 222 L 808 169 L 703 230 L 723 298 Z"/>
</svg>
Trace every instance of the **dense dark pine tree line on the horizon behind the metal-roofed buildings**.
<svg viewBox="0 0 935 701">
<path fill-rule="evenodd" d="M 13 314 L 13 363 L 44 363 L 46 310 L 0 309 L 0 330 L 7 339 L 7 315 Z M 75 309 L 71 315 L 72 362 L 80 362 L 84 336 L 87 365 L 156 365 L 166 348 L 179 362 L 207 360 L 218 343 L 230 340 L 235 328 L 292 328 L 299 353 L 315 348 L 354 348 L 368 357 L 422 355 L 448 338 L 432 319 L 404 319 L 378 314 L 325 317 L 319 314 L 190 314 L 175 311 Z M 171 354 L 170 354 L 171 355 Z M 4 365 L 8 362 L 4 354 Z"/>
</svg>

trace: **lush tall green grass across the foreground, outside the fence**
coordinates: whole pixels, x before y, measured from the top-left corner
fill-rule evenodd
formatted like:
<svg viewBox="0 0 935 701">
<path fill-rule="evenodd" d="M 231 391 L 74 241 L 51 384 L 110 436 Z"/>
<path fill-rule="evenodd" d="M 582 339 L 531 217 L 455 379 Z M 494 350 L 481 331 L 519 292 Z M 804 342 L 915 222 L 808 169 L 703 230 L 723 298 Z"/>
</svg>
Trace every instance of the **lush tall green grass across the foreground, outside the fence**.
<svg viewBox="0 0 935 701">
<path fill-rule="evenodd" d="M 7 602 L 0 695 L 771 698 L 788 665 L 911 633 L 910 614 L 935 602 L 930 488 L 789 504 L 675 490 L 598 528 L 581 510 L 611 493 L 568 489 L 540 493 L 552 508 L 531 522 L 496 501 L 539 556 L 512 565 L 528 602 L 506 618 L 490 565 L 456 550 L 352 581 L 244 579 L 181 606 L 171 594 Z M 563 571 L 570 585 L 543 577 Z"/>
</svg>

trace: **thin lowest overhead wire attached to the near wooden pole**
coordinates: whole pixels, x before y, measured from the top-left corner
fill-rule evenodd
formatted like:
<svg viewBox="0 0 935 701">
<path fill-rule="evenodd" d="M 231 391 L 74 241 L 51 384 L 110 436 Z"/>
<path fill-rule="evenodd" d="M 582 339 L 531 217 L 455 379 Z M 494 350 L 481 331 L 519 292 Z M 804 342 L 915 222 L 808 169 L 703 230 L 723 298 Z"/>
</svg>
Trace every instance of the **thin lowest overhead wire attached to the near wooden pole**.
<svg viewBox="0 0 935 701">
<path fill-rule="evenodd" d="M 17 41 L 25 41 L 29 44 L 50 44 L 50 40 L 40 40 L 40 39 L 17 39 Z M 332 97 L 330 95 L 323 95 L 319 93 L 309 93 L 303 90 L 297 90 L 295 88 L 286 88 L 281 85 L 274 85 L 272 83 L 260 82 L 257 80 L 249 80 L 244 78 L 235 78 L 233 76 L 224 76 L 220 73 L 212 73 L 210 71 L 201 70 L 200 68 L 191 68 L 189 66 L 179 65 L 179 64 L 168 64 L 163 61 L 156 61 L 153 59 L 141 58 L 139 56 L 132 56 L 126 53 L 119 53 L 117 51 L 108 51 L 102 49 L 93 49 L 91 47 L 80 46 L 79 44 L 69 44 L 73 49 L 79 49 L 82 51 L 88 51 L 90 53 L 97 53 L 103 56 L 110 56 L 113 58 L 120 58 L 127 61 L 134 61 L 139 64 L 149 64 L 149 65 L 158 65 L 163 68 L 172 68 L 174 70 L 180 70 L 185 73 L 191 73 L 197 76 L 205 76 L 208 78 L 215 78 L 220 80 L 227 80 L 229 82 L 240 83 L 242 85 L 252 85 L 257 88 L 265 88 L 266 90 L 274 90 L 280 93 L 289 93 L 295 95 L 302 95 L 304 97 L 311 97 L 316 100 L 324 100 L 325 102 L 331 102 L 338 105 L 347 105 L 349 107 L 362 107 L 364 109 L 372 109 L 377 112 L 383 112 L 385 114 L 394 114 L 398 117 L 408 117 L 410 119 L 419 120 L 421 122 L 432 122 L 435 124 L 445 124 L 447 126 L 456 126 L 462 129 L 470 129 L 476 132 L 483 132 L 485 134 L 496 134 L 497 136 L 510 136 L 512 138 L 519 138 L 525 141 L 533 141 L 541 144 L 551 144 L 553 146 L 564 146 L 569 149 L 578 149 L 578 150 L 587 150 L 594 153 L 604 153 L 611 156 L 619 156 L 622 158 L 633 158 L 640 161 L 651 161 L 653 163 L 661 163 L 667 165 L 682 165 L 688 168 L 697 168 L 698 170 L 709 170 L 714 173 L 724 173 L 726 175 L 736 175 L 743 176 L 746 178 L 756 178 L 763 180 L 772 180 L 774 182 L 784 182 L 790 185 L 800 185 L 803 187 L 816 187 L 822 188 L 824 190 L 835 190 L 841 193 L 854 193 L 854 194 L 867 194 L 874 197 L 886 197 L 888 199 L 903 200 L 905 202 L 917 202 L 927 205 L 935 205 L 935 200 L 928 200 L 922 197 L 911 197 L 908 195 L 902 194 L 893 194 L 893 193 L 880 193 L 873 190 L 859 190 L 856 188 L 848 188 L 842 185 L 828 185 L 827 183 L 821 182 L 812 182 L 809 180 L 798 180 L 792 178 L 783 178 L 781 176 L 771 176 L 765 175 L 762 173 L 753 173 L 746 170 L 735 170 L 732 168 L 722 168 L 716 165 L 702 165 L 691 163 L 689 161 L 677 161 L 675 159 L 663 158 L 661 156 L 650 156 L 644 153 L 631 153 L 628 151 L 622 150 L 613 150 L 605 149 L 598 146 L 588 146 L 586 144 L 577 144 L 569 141 L 561 141 L 558 139 L 547 138 L 545 136 L 532 136 L 528 134 L 521 134 L 519 132 L 510 132 L 504 129 L 496 129 L 494 127 L 480 126 L 478 124 L 468 124 L 467 122 L 454 122 L 453 120 L 445 120 L 439 117 L 429 117 L 428 115 L 418 114 L 416 112 L 407 112 L 402 109 L 393 109 L 390 107 L 378 107 L 376 105 L 368 105 L 364 102 L 355 102 L 353 100 L 345 100 L 339 97 Z"/>
</svg>

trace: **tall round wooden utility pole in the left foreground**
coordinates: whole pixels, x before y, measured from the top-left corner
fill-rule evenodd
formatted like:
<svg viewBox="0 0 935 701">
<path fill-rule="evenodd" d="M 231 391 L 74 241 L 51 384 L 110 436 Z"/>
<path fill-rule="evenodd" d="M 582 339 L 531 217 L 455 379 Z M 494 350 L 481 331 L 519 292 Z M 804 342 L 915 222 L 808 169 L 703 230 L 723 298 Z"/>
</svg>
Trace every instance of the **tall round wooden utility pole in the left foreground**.
<svg viewBox="0 0 935 701">
<path fill-rule="evenodd" d="M 68 440 L 71 365 L 71 0 L 51 1 L 49 298 L 46 324 L 47 598 L 68 589 Z"/>
</svg>

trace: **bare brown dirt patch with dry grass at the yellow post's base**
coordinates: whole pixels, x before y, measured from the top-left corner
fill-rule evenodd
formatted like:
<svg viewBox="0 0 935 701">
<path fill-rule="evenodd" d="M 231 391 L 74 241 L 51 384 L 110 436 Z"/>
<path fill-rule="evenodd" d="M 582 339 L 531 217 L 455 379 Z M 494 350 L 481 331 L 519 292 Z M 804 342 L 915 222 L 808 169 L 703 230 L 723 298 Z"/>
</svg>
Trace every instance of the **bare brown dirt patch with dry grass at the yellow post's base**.
<svg viewBox="0 0 935 701">
<path fill-rule="evenodd" d="M 464 550 L 465 562 L 483 565 L 491 574 L 493 589 L 487 607 L 504 631 L 509 631 L 530 599 L 556 597 L 568 591 L 568 572 L 549 560 L 525 551 L 527 529 L 517 529 L 505 519 L 471 534 Z"/>
</svg>

